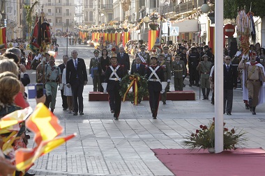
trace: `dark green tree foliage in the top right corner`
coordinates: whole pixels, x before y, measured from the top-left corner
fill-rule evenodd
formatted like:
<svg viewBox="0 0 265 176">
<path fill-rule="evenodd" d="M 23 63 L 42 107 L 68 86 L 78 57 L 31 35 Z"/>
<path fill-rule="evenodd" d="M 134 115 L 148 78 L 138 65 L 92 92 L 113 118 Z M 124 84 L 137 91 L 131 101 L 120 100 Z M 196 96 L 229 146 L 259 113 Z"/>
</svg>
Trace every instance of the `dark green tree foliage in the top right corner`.
<svg viewBox="0 0 265 176">
<path fill-rule="evenodd" d="M 251 11 L 256 17 L 265 16 L 265 3 L 260 0 L 224 0 L 224 18 L 235 19 L 238 15 L 238 8 L 241 10 L 245 7 L 245 12 L 250 11 L 250 3 L 252 2 Z"/>
</svg>

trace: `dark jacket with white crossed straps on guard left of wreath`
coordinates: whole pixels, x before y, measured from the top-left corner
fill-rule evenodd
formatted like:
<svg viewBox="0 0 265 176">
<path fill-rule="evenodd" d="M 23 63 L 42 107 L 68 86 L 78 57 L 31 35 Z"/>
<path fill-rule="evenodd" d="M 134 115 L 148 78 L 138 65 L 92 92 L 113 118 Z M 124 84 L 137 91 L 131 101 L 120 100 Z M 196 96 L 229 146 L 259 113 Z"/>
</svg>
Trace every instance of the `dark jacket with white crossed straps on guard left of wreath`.
<svg viewBox="0 0 265 176">
<path fill-rule="evenodd" d="M 116 66 L 112 65 L 113 69 L 115 70 L 115 68 L 119 65 L 118 70 L 116 70 L 116 74 L 118 75 L 118 77 L 120 79 L 123 78 L 124 76 L 124 72 L 123 72 L 123 66 L 121 64 L 117 64 Z M 115 81 L 115 80 L 109 80 L 110 75 L 112 74 L 112 69 L 110 67 L 111 65 L 109 65 L 109 67 L 107 67 L 106 72 L 105 72 L 105 80 L 104 82 L 107 83 L 107 90 L 114 90 L 114 88 L 121 88 L 120 86 L 120 82 L 121 81 Z M 116 78 L 116 76 L 113 74 L 112 78 Z"/>
</svg>

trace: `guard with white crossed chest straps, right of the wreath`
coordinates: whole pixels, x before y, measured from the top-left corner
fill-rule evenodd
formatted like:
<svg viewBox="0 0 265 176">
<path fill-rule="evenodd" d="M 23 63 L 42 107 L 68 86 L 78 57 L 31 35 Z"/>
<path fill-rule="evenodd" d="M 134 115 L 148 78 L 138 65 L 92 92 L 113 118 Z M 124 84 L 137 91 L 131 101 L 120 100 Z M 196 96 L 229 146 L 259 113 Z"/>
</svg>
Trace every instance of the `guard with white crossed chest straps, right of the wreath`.
<svg viewBox="0 0 265 176">
<path fill-rule="evenodd" d="M 158 115 L 158 106 L 160 91 L 162 90 L 161 82 L 164 81 L 164 71 L 162 67 L 157 64 L 158 58 L 151 56 L 151 65 L 146 70 L 146 77 L 148 79 L 149 90 L 149 104 L 153 119 Z"/>
</svg>

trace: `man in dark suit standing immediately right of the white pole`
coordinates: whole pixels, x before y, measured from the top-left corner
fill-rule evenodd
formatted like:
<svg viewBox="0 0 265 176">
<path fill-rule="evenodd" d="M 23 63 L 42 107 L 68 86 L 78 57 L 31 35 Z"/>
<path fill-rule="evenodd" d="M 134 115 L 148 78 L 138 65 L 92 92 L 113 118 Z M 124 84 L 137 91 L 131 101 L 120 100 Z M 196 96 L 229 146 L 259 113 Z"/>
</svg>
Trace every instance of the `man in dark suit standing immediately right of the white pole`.
<svg viewBox="0 0 265 176">
<path fill-rule="evenodd" d="M 224 113 L 232 115 L 233 88 L 237 86 L 237 71 L 232 67 L 230 56 L 225 56 L 224 64 Z"/>
</svg>

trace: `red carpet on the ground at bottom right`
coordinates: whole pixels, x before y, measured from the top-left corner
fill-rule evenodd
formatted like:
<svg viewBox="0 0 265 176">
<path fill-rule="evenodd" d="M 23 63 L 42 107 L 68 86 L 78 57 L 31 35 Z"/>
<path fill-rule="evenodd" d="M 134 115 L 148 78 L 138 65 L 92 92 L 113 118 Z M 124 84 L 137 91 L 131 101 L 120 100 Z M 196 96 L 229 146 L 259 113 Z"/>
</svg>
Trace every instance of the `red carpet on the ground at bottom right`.
<svg viewBox="0 0 265 176">
<path fill-rule="evenodd" d="M 210 154 L 185 149 L 153 149 L 156 157 L 177 176 L 264 176 L 265 151 L 247 149 Z"/>
</svg>

